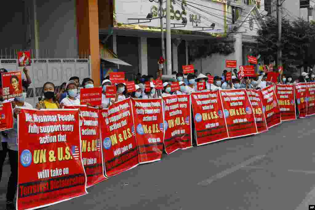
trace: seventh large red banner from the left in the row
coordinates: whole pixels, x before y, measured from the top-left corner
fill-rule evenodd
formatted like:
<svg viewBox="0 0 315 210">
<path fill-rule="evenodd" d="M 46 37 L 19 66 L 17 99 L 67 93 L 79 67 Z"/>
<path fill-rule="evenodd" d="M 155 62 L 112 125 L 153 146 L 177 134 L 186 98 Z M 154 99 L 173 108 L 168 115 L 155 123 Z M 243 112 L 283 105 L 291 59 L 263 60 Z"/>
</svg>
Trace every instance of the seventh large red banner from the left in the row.
<svg viewBox="0 0 315 210">
<path fill-rule="evenodd" d="M 253 107 L 246 89 L 220 90 L 219 92 L 229 137 L 257 133 Z"/>
</svg>

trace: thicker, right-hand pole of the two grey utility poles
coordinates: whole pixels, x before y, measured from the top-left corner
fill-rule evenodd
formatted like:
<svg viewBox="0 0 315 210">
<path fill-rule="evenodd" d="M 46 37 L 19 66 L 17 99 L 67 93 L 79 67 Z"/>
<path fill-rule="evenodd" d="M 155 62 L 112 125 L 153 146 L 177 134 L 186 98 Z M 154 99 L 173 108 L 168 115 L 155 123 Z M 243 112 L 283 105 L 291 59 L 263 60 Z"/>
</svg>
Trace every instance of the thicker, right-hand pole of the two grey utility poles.
<svg viewBox="0 0 315 210">
<path fill-rule="evenodd" d="M 167 74 L 172 74 L 172 46 L 171 46 L 171 8 L 170 0 L 166 0 L 166 65 Z"/>
</svg>

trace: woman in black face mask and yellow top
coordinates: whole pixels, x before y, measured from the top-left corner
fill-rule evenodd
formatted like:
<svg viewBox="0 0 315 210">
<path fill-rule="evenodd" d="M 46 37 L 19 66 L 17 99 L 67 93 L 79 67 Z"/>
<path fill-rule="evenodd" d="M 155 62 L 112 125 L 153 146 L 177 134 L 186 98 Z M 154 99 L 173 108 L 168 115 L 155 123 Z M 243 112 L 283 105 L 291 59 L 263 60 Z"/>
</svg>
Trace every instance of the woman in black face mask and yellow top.
<svg viewBox="0 0 315 210">
<path fill-rule="evenodd" d="M 55 97 L 55 85 L 46 82 L 43 86 L 44 97 L 36 104 L 36 109 L 59 109 L 59 104 Z"/>
</svg>

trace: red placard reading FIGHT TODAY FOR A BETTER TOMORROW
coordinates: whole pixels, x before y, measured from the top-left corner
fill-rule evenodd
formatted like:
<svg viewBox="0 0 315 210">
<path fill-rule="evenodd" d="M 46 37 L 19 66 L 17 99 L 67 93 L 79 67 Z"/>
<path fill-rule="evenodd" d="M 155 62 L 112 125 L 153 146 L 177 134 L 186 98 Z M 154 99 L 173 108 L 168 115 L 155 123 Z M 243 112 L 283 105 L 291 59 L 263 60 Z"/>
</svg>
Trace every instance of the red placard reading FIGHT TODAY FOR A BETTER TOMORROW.
<svg viewBox="0 0 315 210">
<path fill-rule="evenodd" d="M 81 88 L 80 89 L 80 105 L 87 103 L 92 106 L 102 104 L 102 88 Z"/>
</svg>

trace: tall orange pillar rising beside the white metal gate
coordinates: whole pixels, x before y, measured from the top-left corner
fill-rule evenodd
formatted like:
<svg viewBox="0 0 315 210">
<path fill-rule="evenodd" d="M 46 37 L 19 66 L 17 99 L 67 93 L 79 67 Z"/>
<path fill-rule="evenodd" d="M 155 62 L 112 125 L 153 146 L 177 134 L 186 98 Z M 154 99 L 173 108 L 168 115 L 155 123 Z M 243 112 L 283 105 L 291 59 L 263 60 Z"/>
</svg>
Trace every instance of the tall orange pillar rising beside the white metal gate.
<svg viewBox="0 0 315 210">
<path fill-rule="evenodd" d="M 91 78 L 94 86 L 100 86 L 100 43 L 98 0 L 77 0 L 78 52 L 91 55 Z"/>
</svg>

